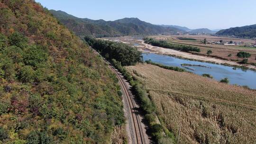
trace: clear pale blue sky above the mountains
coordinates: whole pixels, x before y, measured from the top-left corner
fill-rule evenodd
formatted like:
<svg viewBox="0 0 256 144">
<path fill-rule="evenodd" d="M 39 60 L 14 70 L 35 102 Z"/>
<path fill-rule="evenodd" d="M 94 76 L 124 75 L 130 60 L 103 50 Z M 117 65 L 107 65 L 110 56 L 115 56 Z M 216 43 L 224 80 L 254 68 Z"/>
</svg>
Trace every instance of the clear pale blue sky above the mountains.
<svg viewBox="0 0 256 144">
<path fill-rule="evenodd" d="M 139 18 L 152 24 L 229 28 L 256 24 L 256 0 L 36 0 L 79 18 Z"/>
</svg>

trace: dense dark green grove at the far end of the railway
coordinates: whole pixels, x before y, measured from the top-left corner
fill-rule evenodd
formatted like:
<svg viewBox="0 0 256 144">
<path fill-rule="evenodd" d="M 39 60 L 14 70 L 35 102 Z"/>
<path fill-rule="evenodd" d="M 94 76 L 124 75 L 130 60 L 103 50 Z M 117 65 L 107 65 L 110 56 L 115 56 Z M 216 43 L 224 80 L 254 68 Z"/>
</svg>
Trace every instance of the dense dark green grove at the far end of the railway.
<svg viewBox="0 0 256 144">
<path fill-rule="evenodd" d="M 141 53 L 135 47 L 124 43 L 95 39 L 91 36 L 85 36 L 84 40 L 109 61 L 115 59 L 123 66 L 141 62 Z"/>
</svg>

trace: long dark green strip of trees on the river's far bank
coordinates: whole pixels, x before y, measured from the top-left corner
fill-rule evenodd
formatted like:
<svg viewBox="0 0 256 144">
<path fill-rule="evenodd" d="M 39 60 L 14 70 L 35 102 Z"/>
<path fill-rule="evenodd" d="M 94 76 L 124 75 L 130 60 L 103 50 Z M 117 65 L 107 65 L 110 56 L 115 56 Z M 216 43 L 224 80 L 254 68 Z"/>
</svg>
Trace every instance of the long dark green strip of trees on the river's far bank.
<svg viewBox="0 0 256 144">
<path fill-rule="evenodd" d="M 144 38 L 144 42 L 146 44 L 150 44 L 153 46 L 170 48 L 170 49 L 175 49 L 175 50 L 184 51 L 184 52 L 189 52 L 189 51 L 201 52 L 200 48 L 196 46 L 172 44 L 164 40 L 155 40 L 153 38 L 148 38 L 148 37 Z"/>
</svg>

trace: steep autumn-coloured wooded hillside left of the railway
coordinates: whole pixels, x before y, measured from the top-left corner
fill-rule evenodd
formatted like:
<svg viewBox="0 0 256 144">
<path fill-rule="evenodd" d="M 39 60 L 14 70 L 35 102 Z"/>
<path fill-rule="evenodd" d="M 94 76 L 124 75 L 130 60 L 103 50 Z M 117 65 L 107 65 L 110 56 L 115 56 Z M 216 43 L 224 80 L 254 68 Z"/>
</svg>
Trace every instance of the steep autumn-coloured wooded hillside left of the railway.
<svg viewBox="0 0 256 144">
<path fill-rule="evenodd" d="M 106 144 L 124 123 L 102 59 L 33 0 L 0 0 L 0 143 Z"/>
</svg>

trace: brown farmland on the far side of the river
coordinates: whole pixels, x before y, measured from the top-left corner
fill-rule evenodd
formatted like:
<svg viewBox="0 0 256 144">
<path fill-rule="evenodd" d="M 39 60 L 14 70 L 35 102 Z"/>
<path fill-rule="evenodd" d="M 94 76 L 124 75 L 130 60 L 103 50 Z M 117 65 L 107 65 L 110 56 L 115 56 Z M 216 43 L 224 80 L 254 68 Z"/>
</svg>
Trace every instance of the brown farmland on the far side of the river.
<svg viewBox="0 0 256 144">
<path fill-rule="evenodd" d="M 212 51 L 210 56 L 231 60 L 231 61 L 242 61 L 243 58 L 238 58 L 237 53 L 240 51 L 245 51 L 251 54 L 248 58 L 248 63 L 256 63 L 256 47 L 244 47 L 246 44 L 255 44 L 256 41 L 251 39 L 241 39 L 241 38 L 230 38 L 230 37 L 219 37 L 219 36 L 208 36 L 208 35 L 183 35 L 183 36 L 150 36 L 157 40 L 167 40 L 175 44 L 183 45 L 193 45 L 201 49 L 200 53 L 193 52 L 193 54 L 206 55 L 208 50 Z M 178 37 L 193 38 L 196 40 L 180 40 Z M 208 42 L 243 42 L 242 45 L 215 45 L 215 44 L 202 44 L 201 41 L 206 38 Z M 231 54 L 231 56 L 229 55 Z"/>
</svg>

